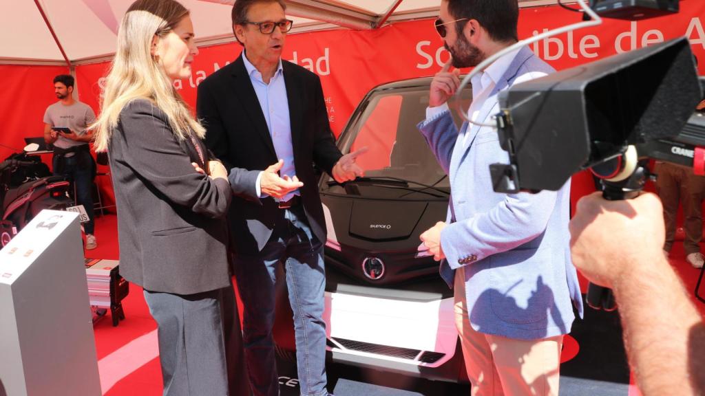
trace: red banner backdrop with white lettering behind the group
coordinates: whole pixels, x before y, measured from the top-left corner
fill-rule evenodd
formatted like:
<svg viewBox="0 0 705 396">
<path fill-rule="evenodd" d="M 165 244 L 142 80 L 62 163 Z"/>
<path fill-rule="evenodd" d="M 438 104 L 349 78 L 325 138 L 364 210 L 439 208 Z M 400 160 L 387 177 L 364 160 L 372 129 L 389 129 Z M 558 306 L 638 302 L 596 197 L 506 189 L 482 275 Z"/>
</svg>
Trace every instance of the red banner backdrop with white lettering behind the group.
<svg viewBox="0 0 705 396">
<path fill-rule="evenodd" d="M 603 25 L 570 32 L 533 44 L 532 50 L 558 70 L 577 66 L 623 51 L 686 36 L 705 70 L 705 1 L 683 0 L 681 11 L 672 16 L 628 22 L 605 20 Z M 520 38 L 580 21 L 581 14 L 557 6 L 521 11 Z M 198 34 L 198 32 L 196 32 Z M 396 23 L 380 30 L 331 30 L 290 35 L 283 58 L 298 63 L 321 76 L 331 127 L 338 135 L 355 106 L 372 87 L 394 80 L 433 75 L 448 60 L 448 52 L 436 35 L 431 20 Z M 196 57 L 193 75 L 175 85 L 184 99 L 195 107 L 196 87 L 215 70 L 233 61 L 239 44 L 202 48 Z M 76 77 L 80 100 L 99 111 L 99 96 L 108 63 L 78 66 Z M 66 68 L 39 66 L 0 66 L 10 89 L 0 98 L 0 113 L 9 131 L 0 143 L 21 147 L 22 137 L 42 132 L 44 109 L 56 98 L 51 78 Z M 7 151 L 7 150 L 6 150 Z M 8 152 L 7 155 L 10 153 Z M 100 168 L 106 172 L 106 168 Z M 104 179 L 104 180 L 101 180 Z M 102 190 L 109 178 L 99 178 Z M 592 190 L 591 180 L 580 175 L 574 180 L 574 196 Z"/>
</svg>

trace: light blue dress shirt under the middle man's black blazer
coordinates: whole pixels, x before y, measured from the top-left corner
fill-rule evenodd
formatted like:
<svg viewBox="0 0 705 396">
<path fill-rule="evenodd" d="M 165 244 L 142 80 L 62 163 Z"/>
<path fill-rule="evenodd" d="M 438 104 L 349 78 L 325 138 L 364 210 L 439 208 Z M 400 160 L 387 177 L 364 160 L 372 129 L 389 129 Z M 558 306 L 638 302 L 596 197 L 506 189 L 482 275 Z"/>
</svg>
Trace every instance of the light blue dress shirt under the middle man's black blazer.
<svg viewBox="0 0 705 396">
<path fill-rule="evenodd" d="M 274 143 L 274 151 L 278 159 L 284 160 L 284 166 L 281 168 L 279 175 L 283 178 L 285 175 L 293 178 L 296 175 L 294 166 L 294 149 L 291 144 L 291 123 L 289 118 L 289 102 L 286 96 L 286 84 L 284 83 L 284 69 L 279 65 L 274 72 L 274 76 L 269 80 L 269 84 L 262 80 L 262 73 L 255 68 L 250 60 L 247 59 L 247 54 L 243 51 L 243 61 L 247 75 L 250 76 L 252 87 L 255 88 L 259 106 L 262 108 L 266 126 L 269 129 L 269 136 Z M 266 197 L 260 190 L 259 180 L 262 179 L 262 173 L 259 173 L 257 178 L 257 194 L 260 197 Z M 290 192 L 282 200 L 288 201 L 294 195 L 299 195 L 298 190 Z"/>
</svg>

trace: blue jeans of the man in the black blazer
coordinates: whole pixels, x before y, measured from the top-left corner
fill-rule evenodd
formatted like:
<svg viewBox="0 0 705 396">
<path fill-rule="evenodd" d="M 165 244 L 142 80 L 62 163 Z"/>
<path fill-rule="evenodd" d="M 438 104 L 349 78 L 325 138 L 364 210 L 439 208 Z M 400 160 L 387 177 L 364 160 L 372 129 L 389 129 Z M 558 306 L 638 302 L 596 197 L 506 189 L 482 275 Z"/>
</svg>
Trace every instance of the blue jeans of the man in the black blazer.
<svg viewBox="0 0 705 396">
<path fill-rule="evenodd" d="M 272 326 L 276 266 L 282 263 L 294 314 L 301 395 L 328 395 L 323 245 L 312 235 L 302 206 L 282 209 L 282 212 L 282 218 L 259 255 L 235 254 L 235 279 L 244 305 L 243 342 L 250 384 L 257 396 L 279 394 Z"/>
</svg>

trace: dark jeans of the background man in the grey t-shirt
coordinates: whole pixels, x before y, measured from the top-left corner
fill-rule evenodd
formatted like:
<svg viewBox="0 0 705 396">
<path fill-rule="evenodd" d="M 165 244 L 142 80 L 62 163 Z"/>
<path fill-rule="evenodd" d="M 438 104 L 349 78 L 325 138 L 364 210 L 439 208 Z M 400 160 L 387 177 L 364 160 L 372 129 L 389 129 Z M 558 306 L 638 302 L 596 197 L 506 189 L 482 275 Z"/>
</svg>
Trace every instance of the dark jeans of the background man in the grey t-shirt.
<svg viewBox="0 0 705 396">
<path fill-rule="evenodd" d="M 93 196 L 91 187 L 93 185 L 93 158 L 88 151 L 77 151 L 73 156 L 63 158 L 63 167 L 59 166 L 59 156 L 54 156 L 52 164 L 54 166 L 54 175 L 61 175 L 71 180 L 76 188 L 76 202 L 83 205 L 86 214 L 90 219 L 87 223 L 83 223 L 83 229 L 86 234 L 92 234 L 95 230 L 93 222 Z M 59 169 L 61 168 L 61 169 Z M 61 172 L 56 173 L 59 169 Z"/>
</svg>

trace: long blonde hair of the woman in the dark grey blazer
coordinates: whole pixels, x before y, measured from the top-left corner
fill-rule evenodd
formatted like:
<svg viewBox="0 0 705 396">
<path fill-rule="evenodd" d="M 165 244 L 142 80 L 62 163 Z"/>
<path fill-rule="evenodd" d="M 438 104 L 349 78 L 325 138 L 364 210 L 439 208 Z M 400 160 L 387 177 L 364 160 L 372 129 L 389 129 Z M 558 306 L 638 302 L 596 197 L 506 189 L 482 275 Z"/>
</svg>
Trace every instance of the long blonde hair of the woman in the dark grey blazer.
<svg viewBox="0 0 705 396">
<path fill-rule="evenodd" d="M 92 125 L 96 151 L 107 151 L 120 112 L 134 99 L 149 99 L 166 113 L 179 140 L 205 129 L 191 116 L 171 79 L 152 56 L 154 36 L 164 37 L 189 11 L 174 0 L 137 0 L 123 17 L 118 30 L 118 49 L 103 92 L 101 113 Z"/>
</svg>

